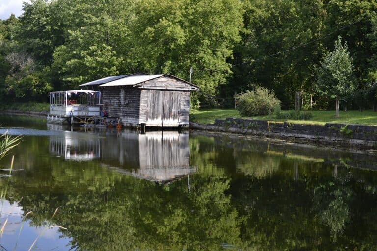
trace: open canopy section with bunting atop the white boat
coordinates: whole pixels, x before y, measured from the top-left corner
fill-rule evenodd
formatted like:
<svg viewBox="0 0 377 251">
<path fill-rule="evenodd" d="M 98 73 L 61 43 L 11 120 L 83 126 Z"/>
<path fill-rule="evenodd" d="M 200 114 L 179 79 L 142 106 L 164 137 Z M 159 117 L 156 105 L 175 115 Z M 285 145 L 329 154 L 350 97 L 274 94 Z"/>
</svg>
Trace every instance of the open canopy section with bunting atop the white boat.
<svg viewBox="0 0 377 251">
<path fill-rule="evenodd" d="M 90 90 L 68 90 L 49 92 L 51 105 L 99 105 L 101 92 Z"/>
</svg>

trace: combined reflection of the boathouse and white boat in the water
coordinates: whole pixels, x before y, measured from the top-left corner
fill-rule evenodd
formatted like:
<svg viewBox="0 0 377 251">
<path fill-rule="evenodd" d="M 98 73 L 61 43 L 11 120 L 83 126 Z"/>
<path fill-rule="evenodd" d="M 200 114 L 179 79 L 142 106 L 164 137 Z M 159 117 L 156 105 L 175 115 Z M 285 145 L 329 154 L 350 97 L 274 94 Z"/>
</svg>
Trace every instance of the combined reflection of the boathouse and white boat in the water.
<svg viewBox="0 0 377 251">
<path fill-rule="evenodd" d="M 50 153 L 66 160 L 100 159 L 118 173 L 169 182 L 196 171 L 190 164 L 188 133 L 151 131 L 92 133 L 64 131 L 50 136 Z"/>
</svg>

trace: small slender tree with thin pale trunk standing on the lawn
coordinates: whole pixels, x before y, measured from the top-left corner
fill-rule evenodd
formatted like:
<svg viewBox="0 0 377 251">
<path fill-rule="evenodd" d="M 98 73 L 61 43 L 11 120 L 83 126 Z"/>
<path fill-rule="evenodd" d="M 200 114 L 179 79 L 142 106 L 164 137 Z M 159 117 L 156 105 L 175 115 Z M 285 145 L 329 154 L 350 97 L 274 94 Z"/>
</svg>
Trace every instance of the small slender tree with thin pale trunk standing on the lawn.
<svg viewBox="0 0 377 251">
<path fill-rule="evenodd" d="M 339 117 L 339 101 L 350 98 L 355 88 L 352 58 L 339 37 L 334 51 L 326 54 L 318 68 L 317 89 L 320 95 L 335 99 L 335 114 Z"/>
</svg>

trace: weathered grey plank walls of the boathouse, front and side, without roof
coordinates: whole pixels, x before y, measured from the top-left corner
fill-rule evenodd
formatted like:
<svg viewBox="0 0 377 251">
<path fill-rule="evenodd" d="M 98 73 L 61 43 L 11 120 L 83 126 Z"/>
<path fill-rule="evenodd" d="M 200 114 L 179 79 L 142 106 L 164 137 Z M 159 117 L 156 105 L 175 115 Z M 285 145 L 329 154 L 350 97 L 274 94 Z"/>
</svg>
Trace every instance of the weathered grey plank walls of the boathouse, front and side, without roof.
<svg viewBox="0 0 377 251">
<path fill-rule="evenodd" d="M 188 125 L 189 90 L 192 88 L 188 83 L 169 76 L 146 81 L 137 87 L 105 87 L 102 90 L 104 110 L 126 123 L 162 126 L 165 113 L 164 119 L 172 122 L 173 117 L 179 116 L 179 124 Z M 167 100 L 163 100 L 164 97 Z"/>
</svg>

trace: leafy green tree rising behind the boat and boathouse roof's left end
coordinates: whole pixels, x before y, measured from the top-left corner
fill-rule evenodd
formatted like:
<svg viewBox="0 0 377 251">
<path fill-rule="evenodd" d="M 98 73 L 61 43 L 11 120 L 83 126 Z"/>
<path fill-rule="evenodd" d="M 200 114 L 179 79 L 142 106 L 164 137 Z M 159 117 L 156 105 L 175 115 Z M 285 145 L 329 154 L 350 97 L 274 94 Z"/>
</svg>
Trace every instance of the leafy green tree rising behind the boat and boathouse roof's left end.
<svg viewBox="0 0 377 251">
<path fill-rule="evenodd" d="M 132 72 L 135 58 L 129 55 L 128 1 L 76 0 L 67 19 L 81 17 L 67 31 L 65 43 L 54 50 L 53 71 L 58 73 L 65 88 L 109 75 Z M 126 58 L 124 60 L 123 58 Z"/>
</svg>

